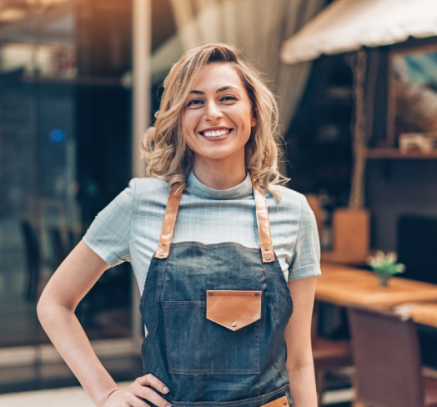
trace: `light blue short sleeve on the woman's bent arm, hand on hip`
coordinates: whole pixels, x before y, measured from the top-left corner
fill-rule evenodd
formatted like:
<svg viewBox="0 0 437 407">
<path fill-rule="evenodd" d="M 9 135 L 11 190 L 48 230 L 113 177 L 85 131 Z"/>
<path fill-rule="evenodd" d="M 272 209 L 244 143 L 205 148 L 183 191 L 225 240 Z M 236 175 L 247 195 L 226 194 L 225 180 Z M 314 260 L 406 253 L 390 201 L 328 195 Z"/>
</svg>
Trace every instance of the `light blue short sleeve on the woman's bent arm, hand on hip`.
<svg viewBox="0 0 437 407">
<path fill-rule="evenodd" d="M 129 240 L 135 180 L 94 219 L 83 241 L 110 266 L 130 261 Z"/>
</svg>

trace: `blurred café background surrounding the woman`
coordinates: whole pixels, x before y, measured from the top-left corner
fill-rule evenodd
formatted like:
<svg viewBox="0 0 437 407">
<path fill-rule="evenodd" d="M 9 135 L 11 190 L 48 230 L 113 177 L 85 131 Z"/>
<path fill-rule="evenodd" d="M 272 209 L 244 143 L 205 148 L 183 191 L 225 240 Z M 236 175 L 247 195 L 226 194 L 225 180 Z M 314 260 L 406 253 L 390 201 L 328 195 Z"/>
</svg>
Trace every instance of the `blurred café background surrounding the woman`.
<svg viewBox="0 0 437 407">
<path fill-rule="evenodd" d="M 324 275 L 348 273 L 362 304 L 403 306 L 420 363 L 437 368 L 434 0 L 0 0 L 0 393 L 78 384 L 37 321 L 38 297 L 96 214 L 144 174 L 138 143 L 163 79 L 208 42 L 240 48 L 278 96 L 280 166 L 315 212 Z M 377 251 L 406 266 L 386 291 L 369 272 Z M 345 305 L 356 301 L 320 281 L 314 339 L 346 346 L 342 361 L 329 346 L 316 361 L 320 405 L 349 406 L 358 366 Z M 77 309 L 117 381 L 141 374 L 137 309 L 129 264 Z"/>
</svg>

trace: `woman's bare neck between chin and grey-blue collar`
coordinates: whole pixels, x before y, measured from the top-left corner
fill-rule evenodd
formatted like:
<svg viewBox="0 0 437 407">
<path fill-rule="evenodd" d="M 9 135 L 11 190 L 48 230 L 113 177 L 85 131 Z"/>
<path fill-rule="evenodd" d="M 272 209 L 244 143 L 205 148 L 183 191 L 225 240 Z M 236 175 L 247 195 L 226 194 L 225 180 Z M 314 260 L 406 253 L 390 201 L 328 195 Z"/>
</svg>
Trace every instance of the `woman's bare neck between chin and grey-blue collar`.
<svg viewBox="0 0 437 407">
<path fill-rule="evenodd" d="M 235 187 L 246 178 L 244 158 L 243 160 L 208 160 L 195 157 L 193 172 L 203 185 L 217 190 Z"/>
</svg>

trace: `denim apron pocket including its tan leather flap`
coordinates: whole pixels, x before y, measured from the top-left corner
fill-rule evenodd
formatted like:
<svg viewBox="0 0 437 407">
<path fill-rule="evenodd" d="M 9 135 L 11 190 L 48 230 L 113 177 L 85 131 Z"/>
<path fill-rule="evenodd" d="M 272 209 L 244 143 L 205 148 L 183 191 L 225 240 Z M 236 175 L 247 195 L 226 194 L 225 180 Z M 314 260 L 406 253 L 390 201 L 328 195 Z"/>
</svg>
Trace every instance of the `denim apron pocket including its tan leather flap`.
<svg viewBox="0 0 437 407">
<path fill-rule="evenodd" d="M 259 372 L 261 294 L 261 291 L 207 290 L 207 373 Z"/>
</svg>

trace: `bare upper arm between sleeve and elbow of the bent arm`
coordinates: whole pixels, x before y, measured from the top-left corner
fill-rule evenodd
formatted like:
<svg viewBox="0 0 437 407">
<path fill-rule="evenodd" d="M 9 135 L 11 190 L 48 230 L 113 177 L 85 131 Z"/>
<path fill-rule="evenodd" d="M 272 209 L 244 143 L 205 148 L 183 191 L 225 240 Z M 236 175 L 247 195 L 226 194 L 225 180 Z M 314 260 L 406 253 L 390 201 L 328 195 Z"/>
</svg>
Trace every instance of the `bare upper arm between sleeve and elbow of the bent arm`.
<svg viewBox="0 0 437 407">
<path fill-rule="evenodd" d="M 45 305 L 58 304 L 74 310 L 103 272 L 110 267 L 83 241 L 72 250 L 45 287 L 38 312 Z"/>
</svg>

